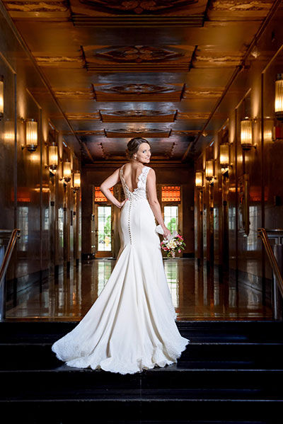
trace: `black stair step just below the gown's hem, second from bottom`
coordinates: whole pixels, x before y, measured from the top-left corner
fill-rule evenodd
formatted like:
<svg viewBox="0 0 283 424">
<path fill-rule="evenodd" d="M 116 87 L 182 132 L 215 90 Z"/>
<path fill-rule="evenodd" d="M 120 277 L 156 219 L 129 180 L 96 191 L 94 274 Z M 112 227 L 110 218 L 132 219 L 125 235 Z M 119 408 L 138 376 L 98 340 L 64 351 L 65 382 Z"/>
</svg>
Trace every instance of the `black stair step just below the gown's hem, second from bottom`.
<svg viewBox="0 0 283 424">
<path fill-rule="evenodd" d="M 118 374 L 103 369 L 71 368 L 67 365 L 53 370 L 1 371 L 0 394 L 20 396 L 23 391 L 57 390 L 171 390 L 179 389 L 209 391 L 214 389 L 249 389 L 265 391 L 270 396 L 280 394 L 283 398 L 282 370 L 252 369 L 171 369 L 156 367 L 136 374 Z M 24 389 L 23 389 L 24 387 Z M 41 395 L 40 395 L 41 396 Z M 268 396 L 267 396 L 268 397 Z"/>
</svg>

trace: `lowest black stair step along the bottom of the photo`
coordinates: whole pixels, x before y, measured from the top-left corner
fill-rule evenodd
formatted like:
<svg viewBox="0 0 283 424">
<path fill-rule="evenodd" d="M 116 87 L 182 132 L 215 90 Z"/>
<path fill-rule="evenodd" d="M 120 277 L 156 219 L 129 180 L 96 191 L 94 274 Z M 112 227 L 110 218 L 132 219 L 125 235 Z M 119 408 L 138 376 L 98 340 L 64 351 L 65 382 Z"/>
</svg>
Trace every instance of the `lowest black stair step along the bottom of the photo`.
<svg viewBox="0 0 283 424">
<path fill-rule="evenodd" d="M 1 413 L 25 423 L 107 423 L 110 420 L 233 420 L 282 423 L 283 401 L 239 399 L 70 399 L 0 401 Z M 232 417 L 231 417 L 232 416 Z M 40 420 L 38 420 L 40 417 Z M 98 418 L 99 417 L 99 418 Z"/>
</svg>

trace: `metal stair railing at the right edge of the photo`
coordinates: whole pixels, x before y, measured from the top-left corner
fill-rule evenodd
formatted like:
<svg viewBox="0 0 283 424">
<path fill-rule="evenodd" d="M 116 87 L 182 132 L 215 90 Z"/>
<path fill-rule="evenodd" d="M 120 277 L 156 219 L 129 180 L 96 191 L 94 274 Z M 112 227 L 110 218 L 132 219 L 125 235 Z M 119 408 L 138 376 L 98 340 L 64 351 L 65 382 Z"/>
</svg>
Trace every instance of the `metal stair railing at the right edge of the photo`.
<svg viewBox="0 0 283 424">
<path fill-rule="evenodd" d="M 261 237 L 263 244 L 265 246 L 265 251 L 267 253 L 267 256 L 270 260 L 270 265 L 272 267 L 273 271 L 273 278 L 272 278 L 272 309 L 273 309 L 273 316 L 275 319 L 282 319 L 282 310 L 279 311 L 278 307 L 278 297 L 277 297 L 277 288 L 279 289 L 279 292 L 283 298 L 283 279 L 281 275 L 281 271 L 279 270 L 278 262 L 275 257 L 275 253 L 272 250 L 270 241 L 268 239 L 267 233 L 270 234 L 270 237 L 272 239 L 276 239 L 276 241 L 282 241 L 283 239 L 283 229 L 265 229 L 265 228 L 258 228 L 258 234 Z M 281 243 L 276 243 L 280 244 Z"/>
</svg>

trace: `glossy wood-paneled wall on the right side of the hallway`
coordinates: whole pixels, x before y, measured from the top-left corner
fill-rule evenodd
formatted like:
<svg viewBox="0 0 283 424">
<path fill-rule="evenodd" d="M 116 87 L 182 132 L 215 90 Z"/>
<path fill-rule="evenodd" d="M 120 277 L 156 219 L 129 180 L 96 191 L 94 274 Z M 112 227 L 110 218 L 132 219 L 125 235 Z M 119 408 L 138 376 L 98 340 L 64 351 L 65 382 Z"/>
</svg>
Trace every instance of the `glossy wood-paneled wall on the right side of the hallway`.
<svg viewBox="0 0 283 424">
<path fill-rule="evenodd" d="M 196 257 L 224 270 L 234 270 L 236 277 L 242 275 L 250 284 L 254 275 L 262 277 L 262 287 L 265 279 L 270 280 L 271 269 L 258 228 L 283 228 L 283 140 L 271 137 L 272 127 L 282 128 L 275 116 L 275 80 L 277 73 L 283 72 L 282 42 L 282 24 L 276 16 L 258 40 L 260 55 L 250 56 L 219 107 L 226 110 L 225 124 L 214 127 L 214 135 L 208 137 L 202 155 L 195 161 L 197 171 L 205 168 L 207 159 L 215 159 L 216 176 L 214 185 L 204 178 L 202 193 L 195 188 Z M 254 146 L 248 151 L 241 147 L 241 119 L 246 116 L 253 120 Z M 230 143 L 228 178 L 222 176 L 219 164 L 224 132 L 228 132 Z M 248 234 L 241 229 L 241 187 L 245 176 Z"/>
</svg>

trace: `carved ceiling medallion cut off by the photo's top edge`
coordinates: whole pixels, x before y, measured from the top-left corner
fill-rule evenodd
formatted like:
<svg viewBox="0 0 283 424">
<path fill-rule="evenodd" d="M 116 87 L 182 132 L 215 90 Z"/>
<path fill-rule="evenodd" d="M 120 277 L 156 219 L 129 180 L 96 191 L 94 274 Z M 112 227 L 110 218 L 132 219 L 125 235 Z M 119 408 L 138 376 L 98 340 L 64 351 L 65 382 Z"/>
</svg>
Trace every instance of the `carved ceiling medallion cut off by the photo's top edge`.
<svg viewBox="0 0 283 424">
<path fill-rule="evenodd" d="M 166 11 L 171 8 L 188 6 L 196 3 L 195 0 L 80 0 L 83 4 L 90 4 L 94 8 L 120 13 L 149 14 Z"/>
</svg>

